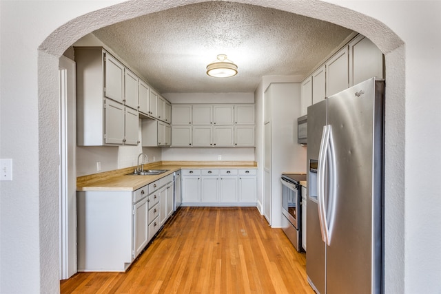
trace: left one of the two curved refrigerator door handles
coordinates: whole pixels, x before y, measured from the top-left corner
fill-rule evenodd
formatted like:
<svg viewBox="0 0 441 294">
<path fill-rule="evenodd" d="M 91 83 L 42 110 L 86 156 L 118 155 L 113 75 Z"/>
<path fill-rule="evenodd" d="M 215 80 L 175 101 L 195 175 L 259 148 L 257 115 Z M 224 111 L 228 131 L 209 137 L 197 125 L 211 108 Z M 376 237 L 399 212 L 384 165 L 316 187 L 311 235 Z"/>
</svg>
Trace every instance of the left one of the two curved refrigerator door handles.
<svg viewBox="0 0 441 294">
<path fill-rule="evenodd" d="M 327 217 L 326 217 L 326 161 L 327 150 L 329 148 L 329 126 L 325 125 L 322 132 L 322 140 L 320 141 L 320 151 L 318 152 L 318 169 L 317 169 L 317 200 L 318 200 L 318 219 L 320 221 L 320 231 L 322 240 L 328 243 L 327 235 Z"/>
</svg>

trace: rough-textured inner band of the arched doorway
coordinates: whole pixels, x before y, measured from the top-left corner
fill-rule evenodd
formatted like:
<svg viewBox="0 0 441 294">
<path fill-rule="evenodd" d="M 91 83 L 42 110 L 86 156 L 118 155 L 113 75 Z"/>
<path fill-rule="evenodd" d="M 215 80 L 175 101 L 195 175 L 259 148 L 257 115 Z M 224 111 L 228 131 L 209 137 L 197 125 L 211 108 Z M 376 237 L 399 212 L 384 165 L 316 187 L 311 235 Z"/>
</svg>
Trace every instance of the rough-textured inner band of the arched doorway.
<svg viewBox="0 0 441 294">
<path fill-rule="evenodd" d="M 110 6 L 102 10 L 97 10 L 96 12 L 85 14 L 65 23 L 65 25 L 62 25 L 60 28 L 52 32 L 52 34 L 43 41 L 39 48 L 39 104 L 43 106 L 39 109 L 39 117 L 41 121 L 39 126 L 39 136 L 46 142 L 52 142 L 49 146 L 45 144 L 44 148 L 43 146 L 39 148 L 39 155 L 41 158 L 48 158 L 48 160 L 40 160 L 39 163 L 39 172 L 45 174 L 44 178 L 41 177 L 41 188 L 39 191 L 41 198 L 40 214 L 42 216 L 40 231 L 45 231 L 46 234 L 52 235 L 51 240 L 56 240 L 57 238 L 53 237 L 58 234 L 57 229 L 50 225 L 53 224 L 53 222 L 57 222 L 57 218 L 54 218 L 54 216 L 58 213 L 56 204 L 57 197 L 53 197 L 58 194 L 58 181 L 54 180 L 57 179 L 58 164 L 56 162 L 57 160 L 51 159 L 58 148 L 58 133 L 54 132 L 54 129 L 57 129 L 57 122 L 54 123 L 48 120 L 50 120 L 51 116 L 53 117 L 54 113 L 57 113 L 57 83 L 54 83 L 54 75 L 57 74 L 59 56 L 61 56 L 64 50 L 72 45 L 74 41 L 81 38 L 81 36 L 102 28 L 105 25 L 132 19 L 133 17 L 138 17 L 143 14 L 181 6 L 181 1 L 177 0 L 173 3 L 170 3 L 170 1 L 163 3 L 159 0 L 151 2 L 152 5 L 146 6 L 143 1 L 127 1 L 116 6 Z M 186 4 L 198 2 L 203 2 L 203 0 L 187 1 Z M 403 134 L 402 136 L 404 136 L 404 124 L 399 125 L 398 123 L 401 122 L 404 117 L 404 95 L 402 95 L 404 90 L 401 90 L 404 89 L 403 43 L 394 32 L 387 28 L 386 25 L 380 23 L 376 19 L 368 17 L 367 15 L 322 1 L 305 0 L 293 1 L 292 3 L 289 1 L 271 1 L 268 3 L 267 1 L 238 0 L 236 2 L 267 6 L 323 21 L 329 21 L 360 32 L 369 37 L 369 39 L 371 39 L 373 43 L 376 43 L 378 48 L 384 52 L 386 57 L 388 69 L 386 74 L 388 81 L 386 116 L 387 120 L 390 122 L 386 125 L 386 132 L 388 129 L 394 129 L 395 132 L 396 129 L 398 129 L 399 131 L 403 131 L 398 131 L 398 133 L 401 133 Z M 339 17 L 335 18 L 334 16 L 336 15 Z M 352 21 L 353 19 L 357 19 L 357 21 Z M 374 30 L 373 26 L 375 27 Z M 72 30 L 72 28 L 74 28 L 74 30 Z M 391 72 L 394 74 L 392 75 Z M 398 111 L 389 112 L 388 109 L 398 109 Z M 397 123 L 393 123 L 394 121 Z M 404 169 L 396 168 L 395 166 L 404 165 L 404 151 L 398 152 L 398 154 L 390 152 L 391 156 L 388 156 L 388 151 L 391 151 L 393 146 L 396 145 L 404 146 L 404 138 L 402 136 L 387 138 L 385 147 L 387 154 L 385 174 L 389 180 L 398 183 L 404 181 Z M 42 142 L 43 141 L 40 140 L 40 144 L 42 144 Z M 397 186 L 398 185 L 396 185 L 396 187 Z M 385 193 L 388 199 L 385 205 L 387 209 L 389 208 L 385 215 L 386 230 L 388 230 L 389 221 L 393 220 L 396 223 L 402 223 L 400 220 L 400 218 L 402 218 L 401 213 L 398 212 L 402 210 L 402 207 L 392 207 L 391 203 L 394 202 L 395 198 L 404 195 L 404 192 L 397 191 L 397 189 L 392 191 L 392 189 L 386 187 Z M 404 231 L 404 229 L 402 229 L 402 231 Z M 386 249 L 389 249 L 390 251 L 404 251 L 404 244 L 402 244 L 402 242 L 389 242 L 389 240 L 396 240 L 394 235 L 400 236 L 402 235 L 402 232 L 397 232 L 396 230 L 388 232 Z M 400 238 L 397 240 L 400 240 Z M 41 242 L 40 245 L 41 254 L 43 254 L 44 252 L 56 251 L 58 243 Z M 386 255 L 386 260 L 387 259 L 388 255 Z M 387 261 L 387 266 L 395 271 L 391 279 L 395 280 L 394 282 L 397 282 L 396 277 L 404 277 L 402 273 L 396 271 L 396 269 L 402 269 L 402 271 L 404 271 L 404 266 L 402 266 L 404 261 L 396 260 L 390 262 L 391 263 Z M 48 269 L 45 269 L 45 266 L 48 266 Z M 53 264 L 50 264 L 50 262 L 48 262 L 48 264 L 43 264 L 41 267 L 41 271 L 51 272 L 54 271 L 54 269 L 57 269 L 57 265 L 54 266 Z M 57 276 L 57 273 L 55 275 L 47 276 L 48 278 Z M 49 281 L 41 282 L 45 283 Z"/>
</svg>

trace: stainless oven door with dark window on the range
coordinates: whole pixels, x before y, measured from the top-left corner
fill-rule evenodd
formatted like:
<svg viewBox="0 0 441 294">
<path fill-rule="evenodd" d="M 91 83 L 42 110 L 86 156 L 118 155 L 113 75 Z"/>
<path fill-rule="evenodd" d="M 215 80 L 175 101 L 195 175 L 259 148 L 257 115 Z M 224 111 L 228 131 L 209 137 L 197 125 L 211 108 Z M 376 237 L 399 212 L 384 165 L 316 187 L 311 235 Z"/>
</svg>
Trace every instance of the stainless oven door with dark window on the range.
<svg viewBox="0 0 441 294">
<path fill-rule="evenodd" d="M 291 222 L 291 224 L 298 230 L 298 209 L 300 203 L 298 202 L 298 185 L 281 179 L 282 181 L 282 213 Z"/>
</svg>

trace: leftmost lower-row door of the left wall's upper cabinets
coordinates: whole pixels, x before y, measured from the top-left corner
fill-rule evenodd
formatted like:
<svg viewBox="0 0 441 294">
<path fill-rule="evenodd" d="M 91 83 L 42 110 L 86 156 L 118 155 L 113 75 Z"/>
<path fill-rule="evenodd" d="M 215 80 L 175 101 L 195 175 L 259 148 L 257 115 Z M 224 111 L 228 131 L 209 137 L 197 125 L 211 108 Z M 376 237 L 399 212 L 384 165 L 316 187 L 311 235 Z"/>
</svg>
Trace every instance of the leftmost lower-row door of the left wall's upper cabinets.
<svg viewBox="0 0 441 294">
<path fill-rule="evenodd" d="M 124 140 L 124 109 L 125 107 L 105 99 L 105 144 L 123 144 Z"/>
</svg>

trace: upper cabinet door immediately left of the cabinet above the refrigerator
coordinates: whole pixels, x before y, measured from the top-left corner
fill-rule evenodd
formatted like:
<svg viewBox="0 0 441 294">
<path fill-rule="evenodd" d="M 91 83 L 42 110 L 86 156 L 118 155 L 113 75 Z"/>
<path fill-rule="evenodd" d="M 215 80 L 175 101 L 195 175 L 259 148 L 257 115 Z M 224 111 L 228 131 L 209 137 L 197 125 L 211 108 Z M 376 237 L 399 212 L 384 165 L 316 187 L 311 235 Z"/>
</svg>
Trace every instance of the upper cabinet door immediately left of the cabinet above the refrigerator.
<svg viewBox="0 0 441 294">
<path fill-rule="evenodd" d="M 348 47 L 345 46 L 325 63 L 326 96 L 332 96 L 349 87 Z"/>
</svg>

